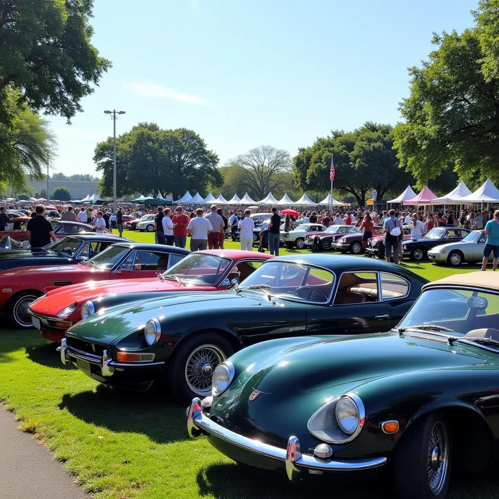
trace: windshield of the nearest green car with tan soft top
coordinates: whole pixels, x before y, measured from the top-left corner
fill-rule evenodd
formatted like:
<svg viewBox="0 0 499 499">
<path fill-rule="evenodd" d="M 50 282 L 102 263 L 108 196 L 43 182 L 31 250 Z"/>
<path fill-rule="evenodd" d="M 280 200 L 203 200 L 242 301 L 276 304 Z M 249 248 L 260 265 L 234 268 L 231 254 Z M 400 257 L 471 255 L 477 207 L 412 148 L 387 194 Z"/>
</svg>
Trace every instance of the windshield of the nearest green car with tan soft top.
<svg viewBox="0 0 499 499">
<path fill-rule="evenodd" d="M 397 328 L 437 326 L 449 335 L 465 335 L 475 329 L 499 328 L 499 294 L 447 288 L 425 291 Z"/>
</svg>

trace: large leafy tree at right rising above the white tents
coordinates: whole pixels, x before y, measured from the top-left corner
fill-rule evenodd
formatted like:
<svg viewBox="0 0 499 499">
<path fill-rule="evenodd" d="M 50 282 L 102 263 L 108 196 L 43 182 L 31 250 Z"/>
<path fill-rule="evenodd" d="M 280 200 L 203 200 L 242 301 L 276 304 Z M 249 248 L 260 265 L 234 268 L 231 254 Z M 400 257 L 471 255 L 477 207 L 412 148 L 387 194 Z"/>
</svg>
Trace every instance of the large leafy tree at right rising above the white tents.
<svg viewBox="0 0 499 499">
<path fill-rule="evenodd" d="M 395 128 L 394 145 L 418 187 L 452 161 L 462 180 L 499 181 L 499 86 L 484 76 L 480 34 L 478 27 L 434 34 L 437 49 L 409 69 L 410 95 L 400 105 L 405 122 Z"/>
</svg>

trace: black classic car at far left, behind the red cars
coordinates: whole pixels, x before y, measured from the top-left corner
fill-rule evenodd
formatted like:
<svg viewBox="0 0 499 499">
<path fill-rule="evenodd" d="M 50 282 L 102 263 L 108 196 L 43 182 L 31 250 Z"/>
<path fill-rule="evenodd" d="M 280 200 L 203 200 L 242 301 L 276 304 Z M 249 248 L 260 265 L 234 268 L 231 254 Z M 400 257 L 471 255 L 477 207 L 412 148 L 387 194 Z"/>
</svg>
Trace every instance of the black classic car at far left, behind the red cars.
<svg viewBox="0 0 499 499">
<path fill-rule="evenodd" d="M 125 239 L 107 234 L 79 234 L 53 241 L 43 248 L 22 248 L 0 252 L 0 271 L 35 265 L 69 265 L 88 260 L 108 246 Z"/>
</svg>

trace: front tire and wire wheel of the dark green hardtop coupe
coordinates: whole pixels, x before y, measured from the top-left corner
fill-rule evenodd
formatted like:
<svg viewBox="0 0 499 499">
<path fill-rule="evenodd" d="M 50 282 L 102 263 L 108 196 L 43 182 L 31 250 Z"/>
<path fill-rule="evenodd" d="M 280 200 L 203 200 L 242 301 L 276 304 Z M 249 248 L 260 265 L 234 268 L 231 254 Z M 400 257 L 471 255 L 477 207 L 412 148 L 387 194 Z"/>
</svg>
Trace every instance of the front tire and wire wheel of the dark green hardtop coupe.
<svg viewBox="0 0 499 499">
<path fill-rule="evenodd" d="M 215 367 L 234 351 L 232 344 L 216 332 L 194 334 L 180 343 L 169 366 L 168 379 L 174 397 L 189 403 L 194 397 L 211 395 Z"/>
</svg>

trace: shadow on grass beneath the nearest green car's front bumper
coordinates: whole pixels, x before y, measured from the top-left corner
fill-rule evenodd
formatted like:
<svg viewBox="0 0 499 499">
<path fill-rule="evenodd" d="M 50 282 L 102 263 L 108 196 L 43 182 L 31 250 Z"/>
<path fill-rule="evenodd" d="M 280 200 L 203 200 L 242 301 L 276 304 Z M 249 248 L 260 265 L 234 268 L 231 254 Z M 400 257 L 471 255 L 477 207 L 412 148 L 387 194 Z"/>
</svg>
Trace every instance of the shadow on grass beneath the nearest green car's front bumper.
<svg viewBox="0 0 499 499">
<path fill-rule="evenodd" d="M 284 473 L 284 472 L 283 472 Z M 325 475 L 305 476 L 299 485 L 291 485 L 285 475 L 282 477 L 265 475 L 252 468 L 233 464 L 214 464 L 200 470 L 197 483 L 200 495 L 218 499 L 310 499 L 310 497 L 333 497 L 337 499 L 391 499 L 392 492 L 379 480 L 383 474 L 373 476 Z M 331 494 L 331 487 L 334 494 Z"/>
</svg>

